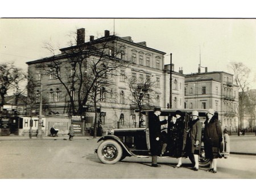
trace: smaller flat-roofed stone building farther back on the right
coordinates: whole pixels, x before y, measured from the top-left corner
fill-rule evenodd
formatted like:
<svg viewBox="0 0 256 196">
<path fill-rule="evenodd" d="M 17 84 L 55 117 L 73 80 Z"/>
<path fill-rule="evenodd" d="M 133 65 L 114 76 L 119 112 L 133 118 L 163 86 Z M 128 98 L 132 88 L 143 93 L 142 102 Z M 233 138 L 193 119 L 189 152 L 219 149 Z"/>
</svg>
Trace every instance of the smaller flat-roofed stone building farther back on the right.
<svg viewBox="0 0 256 196">
<path fill-rule="evenodd" d="M 213 109 L 218 112 L 222 128 L 238 129 L 238 86 L 233 74 L 226 72 L 199 72 L 185 76 L 185 108 Z"/>
</svg>

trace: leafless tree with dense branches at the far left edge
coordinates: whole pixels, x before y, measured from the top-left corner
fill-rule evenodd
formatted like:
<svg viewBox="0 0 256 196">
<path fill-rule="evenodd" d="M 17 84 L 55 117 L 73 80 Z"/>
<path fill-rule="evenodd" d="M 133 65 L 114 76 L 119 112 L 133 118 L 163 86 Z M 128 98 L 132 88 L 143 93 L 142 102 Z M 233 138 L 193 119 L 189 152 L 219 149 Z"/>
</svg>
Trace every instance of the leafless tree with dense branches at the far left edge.
<svg viewBox="0 0 256 196">
<path fill-rule="evenodd" d="M 7 92 L 14 90 L 15 93 L 20 94 L 20 82 L 24 81 L 24 73 L 22 69 L 16 68 L 13 63 L 2 63 L 0 64 L 0 95 L 1 105 L 5 104 L 5 97 Z M 18 102 L 18 99 L 16 99 Z"/>
</svg>

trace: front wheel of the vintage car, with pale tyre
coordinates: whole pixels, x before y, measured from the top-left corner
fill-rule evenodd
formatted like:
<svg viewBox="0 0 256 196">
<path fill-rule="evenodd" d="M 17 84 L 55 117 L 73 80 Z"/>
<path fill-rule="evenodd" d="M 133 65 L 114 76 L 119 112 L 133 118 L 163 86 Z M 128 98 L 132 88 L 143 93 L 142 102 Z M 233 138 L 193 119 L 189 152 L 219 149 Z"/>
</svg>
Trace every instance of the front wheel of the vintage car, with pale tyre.
<svg viewBox="0 0 256 196">
<path fill-rule="evenodd" d="M 98 146 L 98 159 L 104 164 L 115 164 L 122 157 L 122 147 L 117 141 L 105 140 Z"/>
</svg>

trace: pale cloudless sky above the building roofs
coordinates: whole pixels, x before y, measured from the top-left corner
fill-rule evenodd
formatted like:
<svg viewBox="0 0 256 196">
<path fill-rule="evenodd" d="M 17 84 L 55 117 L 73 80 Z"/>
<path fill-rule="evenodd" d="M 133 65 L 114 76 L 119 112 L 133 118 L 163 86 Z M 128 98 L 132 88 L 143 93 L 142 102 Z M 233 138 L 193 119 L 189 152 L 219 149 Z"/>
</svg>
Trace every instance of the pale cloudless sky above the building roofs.
<svg viewBox="0 0 256 196">
<path fill-rule="evenodd" d="M 164 64 L 175 71 L 196 73 L 198 65 L 208 72 L 233 73 L 230 62 L 242 62 L 251 69 L 250 87 L 256 87 L 256 19 L 164 19 L 164 18 L 1 18 L 0 62 L 14 62 L 27 70 L 27 61 L 51 56 L 44 44 L 68 47 L 70 35 L 85 28 L 85 41 L 90 35 L 131 36 L 133 41 L 146 41 L 147 47 L 166 52 Z M 204 68 L 201 69 L 204 72 Z"/>
</svg>

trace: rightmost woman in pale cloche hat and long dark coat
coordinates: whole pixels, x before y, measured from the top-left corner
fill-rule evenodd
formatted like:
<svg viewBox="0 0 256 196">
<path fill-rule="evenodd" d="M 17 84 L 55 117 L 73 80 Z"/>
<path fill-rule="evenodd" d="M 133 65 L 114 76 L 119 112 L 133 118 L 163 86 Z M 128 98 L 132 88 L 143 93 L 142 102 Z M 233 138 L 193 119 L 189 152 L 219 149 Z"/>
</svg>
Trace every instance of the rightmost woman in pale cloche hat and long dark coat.
<svg viewBox="0 0 256 196">
<path fill-rule="evenodd" d="M 204 122 L 204 149 L 205 157 L 210 159 L 208 172 L 217 173 L 217 159 L 219 158 L 222 131 L 220 122 L 214 117 L 214 110 L 207 111 L 207 120 Z"/>
</svg>

